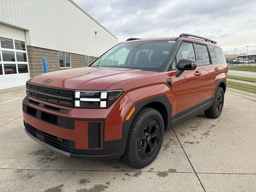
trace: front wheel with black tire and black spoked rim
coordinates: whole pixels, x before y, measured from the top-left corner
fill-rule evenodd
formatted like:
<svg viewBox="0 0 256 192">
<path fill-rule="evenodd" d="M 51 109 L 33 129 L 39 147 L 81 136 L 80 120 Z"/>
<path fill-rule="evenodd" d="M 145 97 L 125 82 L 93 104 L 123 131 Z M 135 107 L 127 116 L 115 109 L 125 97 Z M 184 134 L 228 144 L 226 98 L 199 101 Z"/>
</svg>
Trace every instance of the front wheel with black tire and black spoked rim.
<svg viewBox="0 0 256 192">
<path fill-rule="evenodd" d="M 161 114 L 144 107 L 135 116 L 128 134 L 126 151 L 121 159 L 135 168 L 143 168 L 154 161 L 164 138 Z"/>
</svg>

